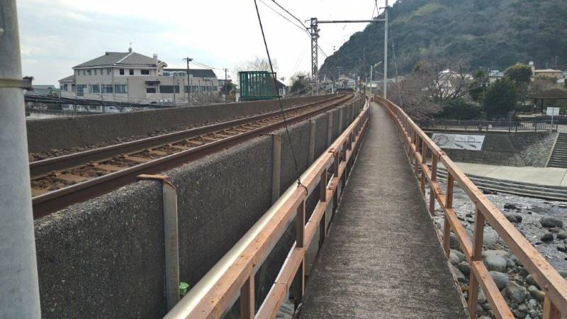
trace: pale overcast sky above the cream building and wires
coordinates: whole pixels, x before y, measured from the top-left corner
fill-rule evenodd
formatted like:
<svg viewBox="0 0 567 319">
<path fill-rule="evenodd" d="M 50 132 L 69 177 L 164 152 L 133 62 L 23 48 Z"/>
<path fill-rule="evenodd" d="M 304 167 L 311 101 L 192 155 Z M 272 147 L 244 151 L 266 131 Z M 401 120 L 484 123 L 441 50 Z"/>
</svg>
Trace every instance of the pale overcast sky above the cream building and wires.
<svg viewBox="0 0 567 319">
<path fill-rule="evenodd" d="M 271 0 L 257 1 L 270 55 L 279 65 L 278 77 L 286 77 L 287 82 L 296 72 L 309 72 L 308 35 L 269 9 L 288 17 Z M 378 6 L 384 2 L 378 0 Z M 302 21 L 369 19 L 374 9 L 374 0 L 278 3 Z M 189 56 L 232 71 L 254 57 L 266 57 L 253 0 L 20 0 L 18 17 L 23 74 L 35 77 L 35 84 L 57 84 L 72 74 L 74 65 L 106 51 L 126 52 L 129 43 L 143 55 L 156 53 L 168 67 L 185 67 L 182 58 Z M 320 47 L 330 55 L 364 27 L 320 25 Z M 319 64 L 324 60 L 320 54 Z M 215 72 L 224 77 L 222 70 Z"/>
</svg>

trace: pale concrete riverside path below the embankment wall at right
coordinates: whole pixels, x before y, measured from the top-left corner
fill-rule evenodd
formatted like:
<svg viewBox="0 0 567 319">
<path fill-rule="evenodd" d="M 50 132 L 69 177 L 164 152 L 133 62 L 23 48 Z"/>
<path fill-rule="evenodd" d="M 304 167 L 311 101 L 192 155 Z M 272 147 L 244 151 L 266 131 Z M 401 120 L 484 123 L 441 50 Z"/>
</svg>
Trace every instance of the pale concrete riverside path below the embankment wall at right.
<svg viewBox="0 0 567 319">
<path fill-rule="evenodd" d="M 513 167 L 456 162 L 465 174 L 547 186 L 567 186 L 567 169 L 556 167 Z M 439 165 L 443 167 L 442 165 Z"/>
</svg>

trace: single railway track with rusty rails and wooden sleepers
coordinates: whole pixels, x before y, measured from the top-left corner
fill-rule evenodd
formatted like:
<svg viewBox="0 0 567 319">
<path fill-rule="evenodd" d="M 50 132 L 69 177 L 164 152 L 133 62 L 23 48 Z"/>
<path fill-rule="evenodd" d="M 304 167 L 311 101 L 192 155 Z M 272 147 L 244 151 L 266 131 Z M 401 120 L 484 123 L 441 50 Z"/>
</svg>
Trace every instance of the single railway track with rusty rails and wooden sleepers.
<svg viewBox="0 0 567 319">
<path fill-rule="evenodd" d="M 296 123 L 356 99 L 347 94 L 285 110 Z M 206 125 L 30 163 L 33 216 L 40 218 L 73 203 L 224 150 L 283 127 L 281 112 Z"/>
</svg>

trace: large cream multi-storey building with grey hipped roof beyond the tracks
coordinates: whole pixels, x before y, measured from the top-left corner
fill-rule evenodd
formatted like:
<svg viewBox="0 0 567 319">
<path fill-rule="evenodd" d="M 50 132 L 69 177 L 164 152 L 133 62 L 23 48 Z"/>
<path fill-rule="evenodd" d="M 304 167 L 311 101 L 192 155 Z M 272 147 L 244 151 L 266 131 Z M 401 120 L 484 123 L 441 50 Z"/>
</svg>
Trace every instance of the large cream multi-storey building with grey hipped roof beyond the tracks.
<svg viewBox="0 0 567 319">
<path fill-rule="evenodd" d="M 69 77 L 60 79 L 61 96 L 103 101 L 185 103 L 191 93 L 218 91 L 218 79 L 210 69 L 167 69 L 157 55 L 133 52 L 105 52 L 73 67 Z M 193 100 L 191 98 L 191 100 Z"/>
</svg>

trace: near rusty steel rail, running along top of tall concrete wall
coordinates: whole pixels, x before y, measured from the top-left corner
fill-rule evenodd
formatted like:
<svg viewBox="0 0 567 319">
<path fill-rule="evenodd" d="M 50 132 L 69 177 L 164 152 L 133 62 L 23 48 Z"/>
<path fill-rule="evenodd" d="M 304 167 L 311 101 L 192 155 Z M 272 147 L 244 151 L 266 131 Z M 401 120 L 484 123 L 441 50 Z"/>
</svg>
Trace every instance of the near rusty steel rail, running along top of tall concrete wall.
<svg viewBox="0 0 567 319">
<path fill-rule="evenodd" d="M 111 172 L 94 179 L 87 179 L 86 181 L 82 181 L 62 189 L 57 189 L 55 191 L 35 196 L 32 198 L 33 217 L 40 218 L 47 216 L 48 214 L 59 211 L 73 203 L 86 201 L 90 198 L 106 194 L 113 189 L 118 189 L 120 186 L 131 184 L 137 180 L 137 176 L 140 174 L 157 174 L 159 172 L 173 169 L 174 167 L 179 167 L 192 160 L 224 150 L 252 138 L 257 138 L 271 132 L 272 130 L 282 128 L 286 125 L 286 123 L 296 123 L 319 113 L 323 113 L 341 105 L 342 103 L 346 103 L 351 99 L 352 96 L 344 99 L 327 101 L 328 105 L 322 106 L 313 111 L 308 111 L 307 113 L 300 114 L 293 118 L 288 118 L 286 122 L 279 121 L 277 123 L 265 125 L 261 128 L 254 128 L 247 132 L 208 142 L 188 150 L 159 157 L 157 159 L 150 160 L 149 162 L 137 164 L 133 167 L 121 169 L 117 172 Z"/>
</svg>

